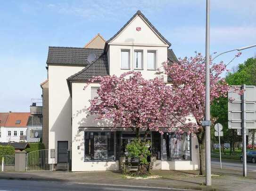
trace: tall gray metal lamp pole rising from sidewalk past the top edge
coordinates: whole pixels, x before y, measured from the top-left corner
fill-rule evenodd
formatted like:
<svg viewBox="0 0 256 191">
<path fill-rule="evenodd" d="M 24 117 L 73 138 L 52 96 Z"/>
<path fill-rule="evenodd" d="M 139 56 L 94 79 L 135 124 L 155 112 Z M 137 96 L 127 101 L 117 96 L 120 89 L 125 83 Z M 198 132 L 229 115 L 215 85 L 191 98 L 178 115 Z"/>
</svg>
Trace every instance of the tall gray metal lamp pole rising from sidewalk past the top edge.
<svg viewBox="0 0 256 191">
<path fill-rule="evenodd" d="M 210 0 L 206 0 L 206 121 L 210 121 Z M 206 130 L 206 185 L 212 185 L 211 177 L 211 132 L 210 125 Z"/>
</svg>

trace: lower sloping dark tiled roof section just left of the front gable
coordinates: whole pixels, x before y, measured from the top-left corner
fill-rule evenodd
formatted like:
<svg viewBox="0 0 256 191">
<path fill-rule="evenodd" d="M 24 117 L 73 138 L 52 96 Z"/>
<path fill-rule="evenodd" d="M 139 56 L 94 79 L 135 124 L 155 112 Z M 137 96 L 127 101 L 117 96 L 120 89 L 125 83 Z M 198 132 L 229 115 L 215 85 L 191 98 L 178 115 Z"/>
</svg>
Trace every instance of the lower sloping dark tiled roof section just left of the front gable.
<svg viewBox="0 0 256 191">
<path fill-rule="evenodd" d="M 87 65 L 80 72 L 67 78 L 67 81 L 87 81 L 92 76 L 109 75 L 107 53 L 102 54 L 96 61 Z"/>
</svg>

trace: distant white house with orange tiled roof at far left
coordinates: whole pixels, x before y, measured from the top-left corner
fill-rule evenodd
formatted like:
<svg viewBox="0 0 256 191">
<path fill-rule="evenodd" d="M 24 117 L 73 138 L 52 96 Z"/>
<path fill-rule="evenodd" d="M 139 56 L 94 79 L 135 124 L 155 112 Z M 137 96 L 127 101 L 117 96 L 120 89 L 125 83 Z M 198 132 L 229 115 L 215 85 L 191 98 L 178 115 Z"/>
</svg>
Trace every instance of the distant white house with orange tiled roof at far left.
<svg viewBox="0 0 256 191">
<path fill-rule="evenodd" d="M 0 142 L 26 142 L 27 122 L 30 113 L 2 113 L 7 114 L 6 122 L 1 127 Z"/>
</svg>

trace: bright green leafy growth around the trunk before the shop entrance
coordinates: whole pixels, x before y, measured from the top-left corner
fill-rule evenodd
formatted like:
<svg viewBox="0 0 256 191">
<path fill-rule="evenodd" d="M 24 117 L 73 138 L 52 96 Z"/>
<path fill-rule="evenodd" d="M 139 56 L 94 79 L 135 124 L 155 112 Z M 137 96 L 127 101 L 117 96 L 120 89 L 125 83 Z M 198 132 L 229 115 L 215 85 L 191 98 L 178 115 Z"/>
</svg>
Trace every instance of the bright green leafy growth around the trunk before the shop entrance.
<svg viewBox="0 0 256 191">
<path fill-rule="evenodd" d="M 148 164 L 147 157 L 151 155 L 149 151 L 150 141 L 143 142 L 140 139 L 135 139 L 132 143 L 126 145 L 129 157 L 140 159 L 140 164 Z"/>
</svg>

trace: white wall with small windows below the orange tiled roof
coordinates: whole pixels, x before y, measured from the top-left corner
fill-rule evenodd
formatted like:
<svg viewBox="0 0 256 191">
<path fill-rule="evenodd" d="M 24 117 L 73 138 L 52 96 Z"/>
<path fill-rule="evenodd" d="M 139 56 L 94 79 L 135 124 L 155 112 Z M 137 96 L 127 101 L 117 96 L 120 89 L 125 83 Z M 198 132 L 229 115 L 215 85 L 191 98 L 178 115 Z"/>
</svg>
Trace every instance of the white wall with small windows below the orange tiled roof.
<svg viewBox="0 0 256 191">
<path fill-rule="evenodd" d="M 20 131 L 23 131 L 23 135 L 26 135 L 26 127 L 1 127 L 0 142 L 26 142 L 26 140 L 20 140 Z M 11 136 L 8 136 L 8 131 L 11 131 Z M 17 136 L 14 136 L 14 131 L 17 131 Z"/>
</svg>

